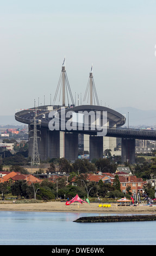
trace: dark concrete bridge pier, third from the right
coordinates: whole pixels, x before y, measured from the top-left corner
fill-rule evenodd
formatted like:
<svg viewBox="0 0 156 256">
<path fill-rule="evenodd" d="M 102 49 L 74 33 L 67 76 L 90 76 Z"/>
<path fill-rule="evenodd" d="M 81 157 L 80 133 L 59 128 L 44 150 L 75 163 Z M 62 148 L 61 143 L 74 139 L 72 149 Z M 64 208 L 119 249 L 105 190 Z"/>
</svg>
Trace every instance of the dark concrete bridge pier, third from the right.
<svg viewBox="0 0 156 256">
<path fill-rule="evenodd" d="M 78 133 L 65 132 L 65 159 L 78 159 Z"/>
</svg>

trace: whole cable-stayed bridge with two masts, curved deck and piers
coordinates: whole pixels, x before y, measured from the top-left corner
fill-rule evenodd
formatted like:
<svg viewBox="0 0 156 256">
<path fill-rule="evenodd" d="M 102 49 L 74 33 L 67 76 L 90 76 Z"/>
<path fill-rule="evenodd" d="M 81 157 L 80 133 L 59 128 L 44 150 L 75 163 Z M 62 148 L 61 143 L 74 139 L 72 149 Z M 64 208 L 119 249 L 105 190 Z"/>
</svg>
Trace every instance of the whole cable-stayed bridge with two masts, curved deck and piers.
<svg viewBox="0 0 156 256">
<path fill-rule="evenodd" d="M 55 105 L 58 94 L 59 98 L 62 95 L 61 105 Z M 33 107 L 15 113 L 17 121 L 29 125 L 29 156 L 32 156 L 33 165 L 39 164 L 39 159 L 78 159 L 79 134 L 84 136 L 84 147 L 88 147 L 90 160 L 102 158 L 107 148 L 115 148 L 118 137 L 122 138 L 122 162 L 134 163 L 135 139 L 156 140 L 156 131 L 122 128 L 126 123 L 124 115 L 111 108 L 99 106 L 92 70 L 84 99 L 87 96 L 90 99 L 88 105 L 75 106 L 63 65 L 53 105 Z M 84 113 L 88 113 L 88 129 L 85 129 Z M 103 119 L 104 113 L 107 113 L 107 119 Z M 95 116 L 96 119 L 93 119 Z M 104 127 L 105 133 L 102 132 Z"/>
</svg>

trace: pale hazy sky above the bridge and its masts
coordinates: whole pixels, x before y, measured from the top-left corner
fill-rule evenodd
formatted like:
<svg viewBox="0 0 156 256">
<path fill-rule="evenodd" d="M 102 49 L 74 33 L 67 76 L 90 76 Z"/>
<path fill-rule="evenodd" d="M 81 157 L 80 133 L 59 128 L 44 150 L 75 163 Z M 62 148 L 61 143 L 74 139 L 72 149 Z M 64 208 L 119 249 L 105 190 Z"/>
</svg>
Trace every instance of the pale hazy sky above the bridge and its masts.
<svg viewBox="0 0 156 256">
<path fill-rule="evenodd" d="M 64 56 L 73 98 L 93 64 L 102 105 L 156 111 L 156 1 L 0 3 L 0 115 L 50 104 Z"/>
</svg>

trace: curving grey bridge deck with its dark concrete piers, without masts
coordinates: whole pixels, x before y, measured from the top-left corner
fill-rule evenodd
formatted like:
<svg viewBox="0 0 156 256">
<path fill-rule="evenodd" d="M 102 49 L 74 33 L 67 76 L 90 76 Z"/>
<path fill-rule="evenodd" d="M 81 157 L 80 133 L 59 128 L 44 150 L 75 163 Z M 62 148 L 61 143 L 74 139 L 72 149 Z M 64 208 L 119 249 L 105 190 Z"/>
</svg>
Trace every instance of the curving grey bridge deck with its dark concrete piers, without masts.
<svg viewBox="0 0 156 256">
<path fill-rule="evenodd" d="M 40 131 L 38 138 L 39 153 L 42 160 L 48 158 L 58 158 L 65 157 L 68 160 L 74 161 L 78 158 L 78 134 L 82 133 L 84 135 L 89 135 L 89 144 L 90 144 L 90 160 L 94 158 L 103 157 L 103 136 L 97 136 L 97 129 L 92 129 L 91 124 L 89 124 L 89 129 L 82 130 L 74 129 L 68 131 L 61 129 L 61 119 L 58 119 L 59 131 L 58 130 L 49 130 L 49 122 L 52 118 L 49 118 L 49 113 L 52 110 L 48 110 L 51 106 L 42 106 L 36 108 L 30 108 L 24 111 L 17 112 L 15 114 L 15 119 L 21 123 L 29 125 L 29 156 L 32 156 L 33 140 L 30 139 L 31 131 L 33 131 L 33 120 L 34 117 L 37 120 L 37 129 Z M 53 108 L 59 109 L 58 106 Z M 107 111 L 109 124 L 112 125 L 115 123 L 115 126 L 107 126 L 107 133 L 105 137 L 115 137 L 122 138 L 122 162 L 125 162 L 127 159 L 130 163 L 135 162 L 135 139 L 147 139 L 156 141 L 156 131 L 154 130 L 142 130 L 142 129 L 127 129 L 120 127 L 124 124 L 125 119 L 123 115 L 113 111 L 113 109 L 108 109 L 100 106 L 78 106 L 73 107 L 72 111 L 78 112 L 80 110 L 84 111 Z M 61 112 L 61 111 L 60 111 Z M 60 113 L 58 111 L 58 113 Z M 66 108 L 66 113 L 71 112 L 71 108 Z M 65 120 L 66 122 L 69 119 Z M 79 127 L 78 123 L 75 123 L 75 127 Z M 62 151 L 62 153 L 60 152 Z"/>
</svg>

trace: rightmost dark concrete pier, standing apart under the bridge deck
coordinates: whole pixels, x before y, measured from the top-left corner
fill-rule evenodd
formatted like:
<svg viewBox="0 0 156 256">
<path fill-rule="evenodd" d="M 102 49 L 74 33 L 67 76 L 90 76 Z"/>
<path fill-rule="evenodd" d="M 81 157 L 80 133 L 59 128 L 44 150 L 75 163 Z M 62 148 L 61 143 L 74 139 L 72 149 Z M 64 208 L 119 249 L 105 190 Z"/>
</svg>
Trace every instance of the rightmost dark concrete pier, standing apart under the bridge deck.
<svg viewBox="0 0 156 256">
<path fill-rule="evenodd" d="M 135 139 L 122 138 L 121 159 L 122 163 L 135 163 Z"/>
</svg>

